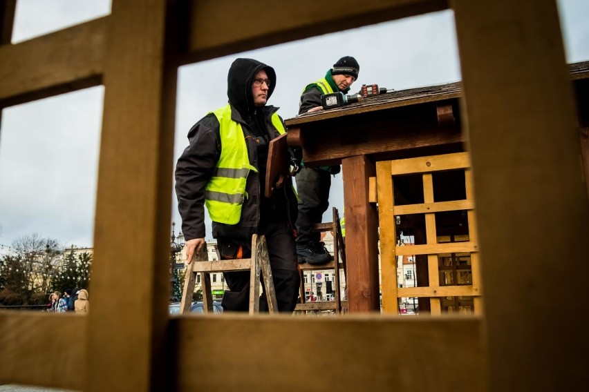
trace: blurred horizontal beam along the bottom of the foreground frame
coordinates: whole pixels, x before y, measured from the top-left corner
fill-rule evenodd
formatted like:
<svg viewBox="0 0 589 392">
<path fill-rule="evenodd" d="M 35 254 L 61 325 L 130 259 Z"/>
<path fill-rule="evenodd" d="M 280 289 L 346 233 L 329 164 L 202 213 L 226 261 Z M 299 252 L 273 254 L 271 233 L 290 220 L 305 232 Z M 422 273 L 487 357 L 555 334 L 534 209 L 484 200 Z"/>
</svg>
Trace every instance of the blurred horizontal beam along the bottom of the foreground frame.
<svg viewBox="0 0 589 392">
<path fill-rule="evenodd" d="M 174 317 L 168 349 L 176 381 L 152 390 L 484 391 L 481 323 L 477 317 Z M 1 312 L 0 380 L 84 389 L 87 328 L 88 317 L 79 315 Z M 129 378 L 111 390 L 134 390 L 136 363 L 116 364 Z M 460 377 L 449 376 L 456 369 Z"/>
</svg>

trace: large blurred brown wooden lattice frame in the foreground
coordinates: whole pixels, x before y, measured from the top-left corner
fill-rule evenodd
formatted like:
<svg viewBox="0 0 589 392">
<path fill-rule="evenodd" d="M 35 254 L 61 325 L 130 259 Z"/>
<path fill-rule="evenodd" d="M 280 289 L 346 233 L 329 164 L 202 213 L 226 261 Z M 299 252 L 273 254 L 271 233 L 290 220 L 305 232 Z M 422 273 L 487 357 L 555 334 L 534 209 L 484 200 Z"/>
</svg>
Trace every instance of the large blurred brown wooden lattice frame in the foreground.
<svg viewBox="0 0 589 392">
<path fill-rule="evenodd" d="M 100 392 L 309 385 L 554 391 L 587 383 L 577 358 L 588 346 L 579 307 L 589 275 L 589 206 L 554 0 L 113 0 L 107 17 L 11 45 L 14 4 L 0 3 L 0 108 L 101 83 L 105 97 L 93 311 L 0 313 L 3 382 Z M 480 252 L 493 260 L 484 266 L 485 317 L 170 320 L 162 260 L 169 252 L 178 66 L 447 8 L 456 20 L 474 186 L 483 190 L 476 194 Z M 355 190 L 366 194 L 370 160 L 347 161 L 344 170 L 359 164 L 354 173 L 363 181 Z M 348 215 L 368 210 L 349 207 Z M 545 220 L 559 228 L 550 241 Z M 505 237 L 505 224 L 518 242 Z M 364 229 L 347 226 L 347 233 Z M 576 273 L 562 316 L 550 317 L 557 268 Z M 113 300 L 120 292 L 133 295 Z M 513 297 L 526 306 L 506 308 Z M 68 333 L 48 338 L 50 331 Z M 336 360 L 308 351 L 325 346 Z M 230 350 L 247 359 L 226 355 Z"/>
</svg>

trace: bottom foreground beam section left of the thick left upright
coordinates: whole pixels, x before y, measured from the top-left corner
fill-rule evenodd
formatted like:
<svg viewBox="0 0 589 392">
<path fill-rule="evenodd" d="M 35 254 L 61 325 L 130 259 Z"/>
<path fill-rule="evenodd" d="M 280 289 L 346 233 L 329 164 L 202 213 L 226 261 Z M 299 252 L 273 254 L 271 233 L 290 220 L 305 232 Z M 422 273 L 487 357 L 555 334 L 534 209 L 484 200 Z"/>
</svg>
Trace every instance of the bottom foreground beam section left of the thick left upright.
<svg viewBox="0 0 589 392">
<path fill-rule="evenodd" d="M 83 389 L 87 324 L 73 313 L 0 311 L 0 384 Z"/>
</svg>

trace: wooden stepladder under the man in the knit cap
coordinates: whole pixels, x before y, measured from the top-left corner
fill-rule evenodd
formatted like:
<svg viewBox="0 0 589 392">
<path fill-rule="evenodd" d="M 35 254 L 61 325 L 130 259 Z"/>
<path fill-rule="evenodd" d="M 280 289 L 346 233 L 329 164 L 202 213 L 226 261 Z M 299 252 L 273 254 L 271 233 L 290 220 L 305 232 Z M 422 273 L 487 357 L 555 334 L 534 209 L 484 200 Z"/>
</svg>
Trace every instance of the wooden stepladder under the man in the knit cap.
<svg viewBox="0 0 589 392">
<path fill-rule="evenodd" d="M 299 264 L 299 274 L 301 275 L 300 299 L 295 312 L 300 313 L 319 313 L 332 311 L 336 315 L 344 312 L 347 308 L 345 294 L 342 295 L 342 276 L 346 282 L 346 244 L 342 235 L 342 226 L 339 219 L 337 208 L 333 207 L 333 221 L 321 224 L 315 224 L 312 230 L 319 233 L 330 232 L 333 236 L 333 260 L 326 264 Z M 328 276 L 333 271 L 333 275 Z M 310 289 L 306 287 L 305 281 L 310 284 Z M 315 286 L 315 292 L 314 292 Z M 329 286 L 331 286 L 330 292 Z M 323 290 L 321 290 L 323 288 Z M 319 291 L 325 292 L 328 300 L 323 300 L 324 295 L 319 295 Z M 344 293 L 346 289 L 343 289 Z M 308 293 L 313 293 L 308 295 Z"/>
</svg>

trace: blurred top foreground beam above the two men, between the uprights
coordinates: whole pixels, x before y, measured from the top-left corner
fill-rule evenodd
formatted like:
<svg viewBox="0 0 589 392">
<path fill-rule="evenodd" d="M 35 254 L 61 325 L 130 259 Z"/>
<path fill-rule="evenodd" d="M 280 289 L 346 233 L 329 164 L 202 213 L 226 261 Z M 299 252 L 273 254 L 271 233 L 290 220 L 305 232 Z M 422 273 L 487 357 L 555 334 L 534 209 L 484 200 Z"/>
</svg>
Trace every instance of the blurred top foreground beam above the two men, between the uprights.
<svg viewBox="0 0 589 392">
<path fill-rule="evenodd" d="M 212 59 L 338 32 L 367 24 L 390 21 L 447 8 L 444 0 L 342 0 L 337 7 L 326 0 L 297 2 L 272 0 L 204 0 L 189 8 L 189 55 L 185 63 Z M 325 12 L 329 9 L 330 12 Z M 251 23 L 271 12 L 264 23 Z M 223 21 L 220 29 L 218 21 Z"/>
</svg>

